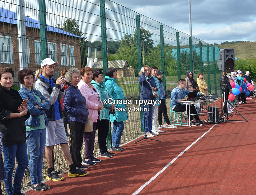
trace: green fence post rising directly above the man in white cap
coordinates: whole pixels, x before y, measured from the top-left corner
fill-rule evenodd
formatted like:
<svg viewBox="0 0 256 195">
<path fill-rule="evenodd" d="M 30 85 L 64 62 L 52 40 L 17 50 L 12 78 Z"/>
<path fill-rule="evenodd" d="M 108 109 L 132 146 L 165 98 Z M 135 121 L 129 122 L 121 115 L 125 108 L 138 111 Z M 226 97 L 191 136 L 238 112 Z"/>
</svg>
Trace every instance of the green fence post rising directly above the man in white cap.
<svg viewBox="0 0 256 195">
<path fill-rule="evenodd" d="M 38 0 L 41 60 L 48 58 L 45 0 Z"/>
</svg>

